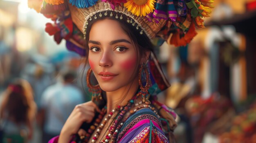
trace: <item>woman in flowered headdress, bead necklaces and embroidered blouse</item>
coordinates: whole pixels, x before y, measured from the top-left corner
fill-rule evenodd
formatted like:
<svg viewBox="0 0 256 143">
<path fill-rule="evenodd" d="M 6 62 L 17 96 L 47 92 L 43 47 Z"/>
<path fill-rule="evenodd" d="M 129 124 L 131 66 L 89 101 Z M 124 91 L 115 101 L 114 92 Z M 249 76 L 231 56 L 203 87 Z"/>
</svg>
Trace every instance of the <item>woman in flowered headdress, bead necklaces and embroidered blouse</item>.
<svg viewBox="0 0 256 143">
<path fill-rule="evenodd" d="M 186 44 L 195 35 L 195 23 L 194 5 L 189 9 L 183 0 L 171 1 L 45 0 L 43 8 L 29 3 L 54 20 L 45 30 L 56 42 L 67 40 L 67 48 L 90 64 L 86 78 L 92 101 L 76 106 L 60 136 L 49 143 L 68 143 L 76 140 L 74 134 L 88 143 L 174 142 L 176 114 L 157 102 L 157 93 L 169 85 L 150 40 L 160 35 L 177 46 Z M 176 35 L 170 38 L 171 32 Z M 91 74 L 97 85 L 91 84 Z"/>
</svg>

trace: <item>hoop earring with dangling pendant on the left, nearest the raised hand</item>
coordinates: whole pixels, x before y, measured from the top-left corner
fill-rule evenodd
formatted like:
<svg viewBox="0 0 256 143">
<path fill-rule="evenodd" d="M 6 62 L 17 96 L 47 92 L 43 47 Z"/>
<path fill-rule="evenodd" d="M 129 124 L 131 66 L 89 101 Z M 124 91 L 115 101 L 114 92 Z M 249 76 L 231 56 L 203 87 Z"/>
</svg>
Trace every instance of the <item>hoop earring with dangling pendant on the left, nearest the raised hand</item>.
<svg viewBox="0 0 256 143">
<path fill-rule="evenodd" d="M 87 86 L 89 88 L 89 92 L 92 92 L 92 101 L 99 101 L 102 99 L 101 88 L 100 88 L 99 84 L 97 84 L 95 86 L 92 85 L 91 80 L 90 80 L 91 73 L 92 73 L 92 69 L 89 68 L 87 71 L 87 75 L 86 75 Z"/>
</svg>

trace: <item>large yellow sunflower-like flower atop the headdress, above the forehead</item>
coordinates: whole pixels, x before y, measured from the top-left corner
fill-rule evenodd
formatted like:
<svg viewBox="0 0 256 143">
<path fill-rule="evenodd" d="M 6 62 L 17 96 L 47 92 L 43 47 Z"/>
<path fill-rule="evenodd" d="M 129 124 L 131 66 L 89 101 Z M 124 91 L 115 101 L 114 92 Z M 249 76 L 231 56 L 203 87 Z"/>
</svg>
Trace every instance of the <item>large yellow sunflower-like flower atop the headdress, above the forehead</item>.
<svg viewBox="0 0 256 143">
<path fill-rule="evenodd" d="M 146 14 L 153 12 L 155 0 L 127 0 L 124 7 L 132 14 L 137 16 L 146 16 Z"/>
</svg>

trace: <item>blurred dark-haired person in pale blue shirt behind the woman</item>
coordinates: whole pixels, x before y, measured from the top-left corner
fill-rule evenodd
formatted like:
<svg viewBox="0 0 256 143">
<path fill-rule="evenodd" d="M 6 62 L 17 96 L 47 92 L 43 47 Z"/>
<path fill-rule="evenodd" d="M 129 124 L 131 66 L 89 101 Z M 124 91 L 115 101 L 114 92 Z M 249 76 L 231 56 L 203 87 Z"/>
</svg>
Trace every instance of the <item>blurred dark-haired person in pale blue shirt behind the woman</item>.
<svg viewBox="0 0 256 143">
<path fill-rule="evenodd" d="M 38 114 L 43 127 L 43 143 L 60 134 L 74 107 L 84 102 L 81 90 L 74 84 L 75 78 L 76 74 L 69 70 L 63 74 L 63 81 L 43 92 Z"/>
</svg>

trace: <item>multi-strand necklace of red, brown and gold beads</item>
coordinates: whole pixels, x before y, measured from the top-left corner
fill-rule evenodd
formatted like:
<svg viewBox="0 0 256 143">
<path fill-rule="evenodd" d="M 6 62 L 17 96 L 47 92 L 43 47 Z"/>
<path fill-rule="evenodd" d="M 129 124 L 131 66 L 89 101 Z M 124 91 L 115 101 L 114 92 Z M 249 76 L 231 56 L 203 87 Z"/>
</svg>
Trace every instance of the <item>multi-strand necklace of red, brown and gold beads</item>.
<svg viewBox="0 0 256 143">
<path fill-rule="evenodd" d="M 99 142 L 99 143 L 115 143 L 117 140 L 117 134 L 119 132 L 119 130 L 122 128 L 122 126 L 124 125 L 124 122 L 132 115 L 134 114 L 137 110 L 141 109 L 141 108 L 150 108 L 151 110 L 153 110 L 155 113 L 157 113 L 155 111 L 154 107 L 151 107 L 148 104 L 142 105 L 143 103 L 140 101 L 139 103 L 135 103 L 135 109 L 134 110 L 130 110 L 132 104 L 134 104 L 134 98 L 132 98 L 126 106 L 117 106 L 117 108 L 114 108 L 107 116 L 105 119 L 103 119 L 104 115 L 106 114 L 107 108 L 106 106 L 101 110 L 98 118 L 94 121 L 93 125 L 90 126 L 90 128 L 88 129 L 86 135 L 85 135 L 85 139 L 83 139 L 83 143 L 87 143 L 90 139 L 90 136 L 92 135 L 92 133 L 96 130 L 96 128 L 99 126 L 99 128 L 96 130 L 96 132 L 94 133 L 94 136 L 92 137 L 92 143 L 96 143 L 96 141 L 98 140 L 99 135 L 101 134 L 102 129 L 104 128 L 104 126 L 106 125 L 107 121 L 112 117 L 112 115 L 115 112 L 119 112 L 119 114 L 117 114 L 117 117 L 115 118 L 115 121 L 112 123 L 112 125 L 110 125 L 110 128 L 108 130 L 108 133 L 106 136 L 103 137 L 103 139 Z M 124 119 L 125 114 L 130 111 L 130 114 L 128 115 L 128 117 L 126 117 Z M 102 121 L 103 119 L 103 121 Z M 101 123 L 102 121 L 102 123 Z"/>
</svg>

